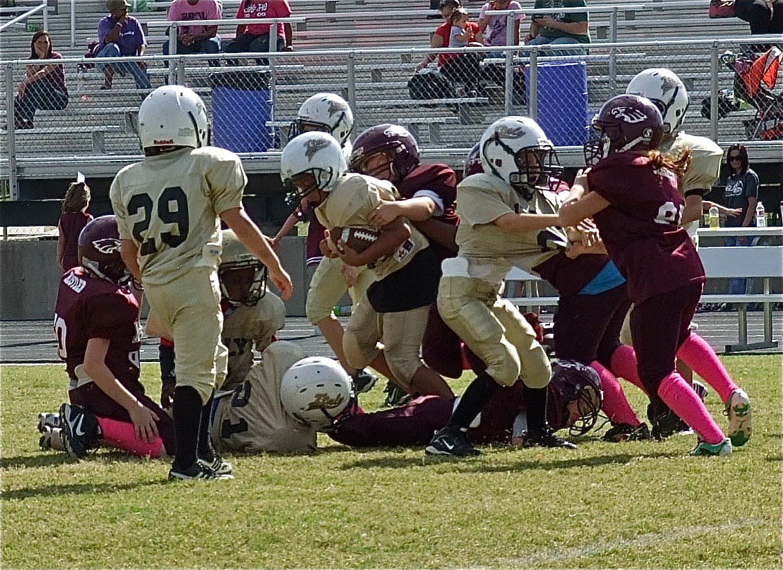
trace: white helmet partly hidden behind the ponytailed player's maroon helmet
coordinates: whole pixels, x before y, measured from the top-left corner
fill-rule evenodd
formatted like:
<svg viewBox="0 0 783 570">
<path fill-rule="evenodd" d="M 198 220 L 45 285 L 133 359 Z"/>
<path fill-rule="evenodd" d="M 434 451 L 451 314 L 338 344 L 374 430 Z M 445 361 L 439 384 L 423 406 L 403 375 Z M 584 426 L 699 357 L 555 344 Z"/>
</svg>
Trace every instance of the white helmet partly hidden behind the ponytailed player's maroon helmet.
<svg viewBox="0 0 783 570">
<path fill-rule="evenodd" d="M 664 134 L 673 134 L 683 124 L 689 99 L 685 84 L 677 73 L 664 67 L 640 71 L 626 88 L 627 95 L 647 97 L 663 116 Z"/>
</svg>

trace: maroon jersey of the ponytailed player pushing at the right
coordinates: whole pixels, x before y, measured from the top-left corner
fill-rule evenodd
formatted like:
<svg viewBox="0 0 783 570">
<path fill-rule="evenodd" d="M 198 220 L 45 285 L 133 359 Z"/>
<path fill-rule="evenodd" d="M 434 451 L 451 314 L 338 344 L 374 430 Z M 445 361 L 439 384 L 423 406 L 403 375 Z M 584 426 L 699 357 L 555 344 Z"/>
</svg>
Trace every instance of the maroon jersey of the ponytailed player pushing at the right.
<svg viewBox="0 0 783 570">
<path fill-rule="evenodd" d="M 685 203 L 673 172 L 623 152 L 601 160 L 587 179 L 590 190 L 610 203 L 594 220 L 634 303 L 705 281 L 698 253 L 680 227 Z"/>
</svg>

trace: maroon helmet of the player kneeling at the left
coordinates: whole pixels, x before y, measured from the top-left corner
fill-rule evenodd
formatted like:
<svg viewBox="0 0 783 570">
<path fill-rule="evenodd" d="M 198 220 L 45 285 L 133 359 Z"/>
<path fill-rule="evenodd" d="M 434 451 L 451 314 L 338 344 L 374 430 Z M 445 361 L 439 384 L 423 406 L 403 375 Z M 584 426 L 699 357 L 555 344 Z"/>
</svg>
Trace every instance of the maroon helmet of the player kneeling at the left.
<svg viewBox="0 0 783 570">
<path fill-rule="evenodd" d="M 130 281 L 128 267 L 120 256 L 120 231 L 114 216 L 96 217 L 81 230 L 78 256 L 81 267 L 96 277 L 117 285 Z"/>
</svg>

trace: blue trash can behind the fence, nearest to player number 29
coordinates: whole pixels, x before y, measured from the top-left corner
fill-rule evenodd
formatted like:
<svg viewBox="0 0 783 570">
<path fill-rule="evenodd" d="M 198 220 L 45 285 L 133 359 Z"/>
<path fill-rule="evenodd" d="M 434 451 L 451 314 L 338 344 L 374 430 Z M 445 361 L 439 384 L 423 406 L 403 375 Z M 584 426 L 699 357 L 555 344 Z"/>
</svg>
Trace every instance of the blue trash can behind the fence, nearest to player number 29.
<svg viewBox="0 0 783 570">
<path fill-rule="evenodd" d="M 264 71 L 211 73 L 213 144 L 233 152 L 265 152 L 275 142 L 272 91 Z"/>
</svg>

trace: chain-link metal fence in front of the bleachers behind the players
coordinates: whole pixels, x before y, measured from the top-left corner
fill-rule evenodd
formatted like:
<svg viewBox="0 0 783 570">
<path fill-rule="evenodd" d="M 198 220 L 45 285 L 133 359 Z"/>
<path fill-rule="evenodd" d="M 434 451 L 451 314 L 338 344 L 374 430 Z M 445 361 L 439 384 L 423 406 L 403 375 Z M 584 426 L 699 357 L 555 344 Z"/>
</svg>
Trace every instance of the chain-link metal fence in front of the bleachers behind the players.
<svg viewBox="0 0 783 570">
<path fill-rule="evenodd" d="M 197 91 L 209 109 L 213 142 L 248 158 L 278 156 L 299 105 L 319 91 L 348 100 L 354 134 L 373 124 L 402 124 L 423 149 L 467 150 L 488 124 L 508 114 L 537 118 L 555 145 L 578 147 L 601 104 L 651 66 L 674 70 L 686 84 L 688 132 L 717 142 L 762 138 L 765 131 L 758 125 L 774 119 L 774 109 L 732 99 L 737 73 L 724 54 L 742 54 L 751 42 L 776 39 L 594 44 L 578 53 L 568 45 L 60 59 L 51 63 L 62 66 L 67 80 L 64 108 L 56 90 L 46 85 L 31 84 L 19 94 L 25 66 L 40 61 L 9 61 L 2 68 L 0 98 L 5 115 L 0 156 L 8 158 L 0 165 L 15 195 L 19 167 L 139 156 L 136 113 L 149 92 L 136 88 L 131 73 L 138 75 L 140 63 L 146 64 L 153 88 L 175 81 Z M 452 63 L 431 63 L 427 73 L 413 78 L 417 63 L 431 52 L 454 55 Z M 558 55 L 563 53 L 568 55 Z M 89 67 L 95 64 L 116 67 L 110 90 L 101 89 L 103 73 Z M 736 106 L 729 105 L 732 101 Z"/>
</svg>

